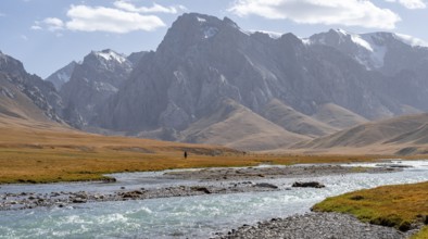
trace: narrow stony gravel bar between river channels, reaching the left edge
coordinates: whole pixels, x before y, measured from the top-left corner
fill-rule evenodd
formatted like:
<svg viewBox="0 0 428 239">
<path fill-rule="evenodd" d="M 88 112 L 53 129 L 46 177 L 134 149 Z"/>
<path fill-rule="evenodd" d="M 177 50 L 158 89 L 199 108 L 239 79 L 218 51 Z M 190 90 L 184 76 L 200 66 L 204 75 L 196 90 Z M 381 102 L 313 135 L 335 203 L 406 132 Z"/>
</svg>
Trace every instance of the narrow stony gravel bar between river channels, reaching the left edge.
<svg viewBox="0 0 428 239">
<path fill-rule="evenodd" d="M 211 193 L 238 193 L 249 191 L 273 191 L 280 190 L 278 186 L 266 183 L 232 183 L 223 185 L 207 185 L 207 186 L 178 186 L 166 188 L 151 188 L 126 190 L 126 188 L 118 188 L 113 193 L 95 193 L 89 191 L 78 192 L 51 192 L 51 193 L 4 193 L 0 194 L 0 211 L 4 210 L 24 210 L 35 209 L 38 206 L 67 206 L 73 204 L 81 204 L 89 202 L 106 202 L 106 201 L 127 201 L 127 200 L 144 200 L 155 198 L 171 198 L 171 197 L 189 197 Z"/>
</svg>

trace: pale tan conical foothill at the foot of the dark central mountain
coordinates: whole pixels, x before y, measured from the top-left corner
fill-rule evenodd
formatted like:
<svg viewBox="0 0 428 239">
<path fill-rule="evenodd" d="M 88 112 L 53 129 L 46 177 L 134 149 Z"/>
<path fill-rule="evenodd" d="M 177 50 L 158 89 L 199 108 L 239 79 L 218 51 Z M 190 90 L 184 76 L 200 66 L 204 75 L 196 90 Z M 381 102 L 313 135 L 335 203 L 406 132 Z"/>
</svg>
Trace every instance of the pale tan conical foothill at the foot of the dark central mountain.
<svg viewBox="0 0 428 239">
<path fill-rule="evenodd" d="M 181 137 L 187 142 L 243 150 L 277 149 L 307 139 L 285 130 L 232 100 L 223 101 L 213 115 L 192 123 Z"/>
</svg>

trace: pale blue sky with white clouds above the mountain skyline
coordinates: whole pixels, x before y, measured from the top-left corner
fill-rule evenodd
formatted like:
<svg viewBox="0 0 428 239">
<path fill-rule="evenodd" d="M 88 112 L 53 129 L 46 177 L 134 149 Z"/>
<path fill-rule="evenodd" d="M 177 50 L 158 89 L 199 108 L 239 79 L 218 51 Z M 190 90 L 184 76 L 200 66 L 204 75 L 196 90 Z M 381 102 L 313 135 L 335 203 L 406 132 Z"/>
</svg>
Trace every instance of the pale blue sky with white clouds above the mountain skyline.
<svg viewBox="0 0 428 239">
<path fill-rule="evenodd" d="M 90 51 L 155 50 L 172 23 L 198 12 L 246 30 L 298 37 L 341 28 L 428 41 L 428 0 L 1 0 L 0 51 L 42 78 Z"/>
</svg>

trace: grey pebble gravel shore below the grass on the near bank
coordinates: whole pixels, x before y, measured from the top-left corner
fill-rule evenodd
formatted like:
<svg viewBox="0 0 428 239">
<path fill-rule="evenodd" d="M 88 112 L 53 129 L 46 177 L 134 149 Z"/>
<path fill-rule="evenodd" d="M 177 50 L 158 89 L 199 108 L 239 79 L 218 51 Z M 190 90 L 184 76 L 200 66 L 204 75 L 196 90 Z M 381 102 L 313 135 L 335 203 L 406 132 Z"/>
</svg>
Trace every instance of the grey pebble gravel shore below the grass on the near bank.
<svg viewBox="0 0 428 239">
<path fill-rule="evenodd" d="M 391 227 L 362 223 L 345 214 L 307 213 L 287 218 L 273 218 L 252 226 L 243 225 L 226 234 L 217 232 L 215 238 L 403 239 L 413 232 L 415 231 L 402 232 Z"/>
</svg>

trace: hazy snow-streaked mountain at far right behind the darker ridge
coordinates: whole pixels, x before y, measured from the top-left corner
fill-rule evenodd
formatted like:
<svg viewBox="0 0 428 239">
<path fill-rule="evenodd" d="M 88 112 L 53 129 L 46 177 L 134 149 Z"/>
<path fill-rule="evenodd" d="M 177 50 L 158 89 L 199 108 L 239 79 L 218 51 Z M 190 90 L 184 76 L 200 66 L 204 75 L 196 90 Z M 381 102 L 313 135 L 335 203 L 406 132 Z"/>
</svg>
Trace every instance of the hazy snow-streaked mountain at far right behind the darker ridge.
<svg viewBox="0 0 428 239">
<path fill-rule="evenodd" d="M 342 29 L 316 34 L 310 45 L 328 46 L 353 58 L 386 79 L 377 88 L 403 104 L 427 111 L 428 48 L 415 46 L 408 36 L 392 33 L 352 34 Z"/>
</svg>

